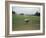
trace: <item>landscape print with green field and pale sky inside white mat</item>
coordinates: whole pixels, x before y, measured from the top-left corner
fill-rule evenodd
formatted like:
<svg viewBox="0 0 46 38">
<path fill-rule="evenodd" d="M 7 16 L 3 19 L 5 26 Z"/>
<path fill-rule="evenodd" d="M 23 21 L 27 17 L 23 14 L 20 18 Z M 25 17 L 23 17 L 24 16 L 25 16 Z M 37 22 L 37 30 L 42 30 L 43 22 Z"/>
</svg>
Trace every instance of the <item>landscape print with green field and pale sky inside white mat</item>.
<svg viewBox="0 0 46 38">
<path fill-rule="evenodd" d="M 12 31 L 40 30 L 40 7 L 12 6 Z"/>
</svg>

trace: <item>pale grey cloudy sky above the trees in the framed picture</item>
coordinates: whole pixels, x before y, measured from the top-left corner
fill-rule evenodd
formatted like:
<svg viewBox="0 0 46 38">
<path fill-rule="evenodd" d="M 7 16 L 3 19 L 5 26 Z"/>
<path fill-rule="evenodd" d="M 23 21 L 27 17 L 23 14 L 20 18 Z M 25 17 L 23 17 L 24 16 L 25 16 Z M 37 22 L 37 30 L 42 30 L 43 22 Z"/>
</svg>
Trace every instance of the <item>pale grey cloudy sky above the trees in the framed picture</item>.
<svg viewBox="0 0 46 38">
<path fill-rule="evenodd" d="M 12 10 L 17 14 L 35 14 L 37 11 L 40 12 L 39 7 L 20 7 L 20 6 L 12 6 Z"/>
</svg>

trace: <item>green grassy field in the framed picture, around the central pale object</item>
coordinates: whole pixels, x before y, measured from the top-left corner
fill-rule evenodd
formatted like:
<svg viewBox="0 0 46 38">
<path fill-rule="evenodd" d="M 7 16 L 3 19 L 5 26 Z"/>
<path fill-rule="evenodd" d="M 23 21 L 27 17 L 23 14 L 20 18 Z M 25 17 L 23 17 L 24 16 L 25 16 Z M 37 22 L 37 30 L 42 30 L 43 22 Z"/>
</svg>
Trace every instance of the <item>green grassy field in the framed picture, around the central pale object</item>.
<svg viewBox="0 0 46 38">
<path fill-rule="evenodd" d="M 29 23 L 25 23 L 24 19 L 30 19 Z M 24 16 L 12 15 L 12 30 L 39 30 L 40 29 L 40 16 Z"/>
</svg>

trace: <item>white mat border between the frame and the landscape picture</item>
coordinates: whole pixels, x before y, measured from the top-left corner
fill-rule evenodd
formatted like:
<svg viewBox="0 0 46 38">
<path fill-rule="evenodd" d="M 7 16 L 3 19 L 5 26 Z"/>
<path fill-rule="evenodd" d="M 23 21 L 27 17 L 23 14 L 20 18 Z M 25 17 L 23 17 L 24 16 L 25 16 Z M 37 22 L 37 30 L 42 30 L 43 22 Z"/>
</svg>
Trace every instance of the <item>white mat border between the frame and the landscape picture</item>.
<svg viewBox="0 0 46 38">
<path fill-rule="evenodd" d="M 40 7 L 40 30 L 12 31 L 12 6 Z M 9 34 L 43 33 L 43 6 L 40 6 L 40 5 L 10 4 L 9 14 L 10 14 Z"/>
</svg>

